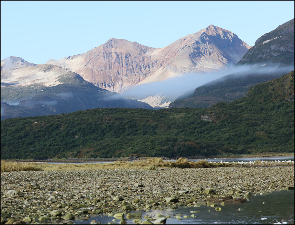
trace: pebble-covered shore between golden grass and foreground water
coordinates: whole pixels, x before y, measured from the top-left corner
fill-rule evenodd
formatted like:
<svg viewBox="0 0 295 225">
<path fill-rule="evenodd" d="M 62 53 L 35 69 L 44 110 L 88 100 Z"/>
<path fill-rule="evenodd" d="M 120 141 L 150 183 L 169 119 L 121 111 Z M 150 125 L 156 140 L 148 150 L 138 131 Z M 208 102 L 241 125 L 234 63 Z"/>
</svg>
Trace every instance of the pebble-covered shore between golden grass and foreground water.
<svg viewBox="0 0 295 225">
<path fill-rule="evenodd" d="M 1 224 L 72 223 L 98 214 L 194 206 L 210 197 L 250 198 L 285 189 L 294 189 L 294 167 L 5 172 Z"/>
</svg>

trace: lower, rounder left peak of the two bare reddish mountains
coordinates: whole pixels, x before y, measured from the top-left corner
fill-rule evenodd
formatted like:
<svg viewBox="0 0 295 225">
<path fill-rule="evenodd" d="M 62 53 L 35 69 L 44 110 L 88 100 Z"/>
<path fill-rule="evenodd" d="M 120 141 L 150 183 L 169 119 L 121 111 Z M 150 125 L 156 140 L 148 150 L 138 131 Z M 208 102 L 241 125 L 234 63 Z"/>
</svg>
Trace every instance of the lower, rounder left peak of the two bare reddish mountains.
<svg viewBox="0 0 295 225">
<path fill-rule="evenodd" d="M 124 39 L 110 39 L 87 53 L 47 62 L 77 71 L 86 81 L 98 87 L 121 92 L 125 86 L 145 79 L 157 69 L 152 60 L 155 48 Z"/>
</svg>

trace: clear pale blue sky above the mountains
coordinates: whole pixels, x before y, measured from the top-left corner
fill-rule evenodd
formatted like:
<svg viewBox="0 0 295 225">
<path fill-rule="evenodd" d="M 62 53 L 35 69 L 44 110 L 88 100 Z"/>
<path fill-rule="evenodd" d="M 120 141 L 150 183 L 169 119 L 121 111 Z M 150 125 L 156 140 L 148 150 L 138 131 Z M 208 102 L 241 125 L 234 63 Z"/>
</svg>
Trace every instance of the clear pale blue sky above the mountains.
<svg viewBox="0 0 295 225">
<path fill-rule="evenodd" d="M 110 38 L 153 48 L 213 24 L 254 45 L 294 18 L 294 1 L 1 1 L 1 60 L 46 63 Z"/>
</svg>

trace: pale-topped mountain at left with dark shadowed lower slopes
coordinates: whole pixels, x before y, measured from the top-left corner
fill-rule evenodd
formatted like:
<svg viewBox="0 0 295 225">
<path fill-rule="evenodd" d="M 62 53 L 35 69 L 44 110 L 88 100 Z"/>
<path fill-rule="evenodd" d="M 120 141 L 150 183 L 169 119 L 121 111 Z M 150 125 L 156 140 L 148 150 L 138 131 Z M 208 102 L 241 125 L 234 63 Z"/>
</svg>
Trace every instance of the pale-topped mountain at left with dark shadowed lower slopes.
<svg viewBox="0 0 295 225">
<path fill-rule="evenodd" d="M 23 67 L 15 66 L 22 62 Z M 118 93 L 96 87 L 60 66 L 28 64 L 22 58 L 10 64 L 12 68 L 2 67 L 7 61 L 1 61 L 1 120 L 92 108 L 152 109 L 147 103 L 124 99 Z"/>
</svg>

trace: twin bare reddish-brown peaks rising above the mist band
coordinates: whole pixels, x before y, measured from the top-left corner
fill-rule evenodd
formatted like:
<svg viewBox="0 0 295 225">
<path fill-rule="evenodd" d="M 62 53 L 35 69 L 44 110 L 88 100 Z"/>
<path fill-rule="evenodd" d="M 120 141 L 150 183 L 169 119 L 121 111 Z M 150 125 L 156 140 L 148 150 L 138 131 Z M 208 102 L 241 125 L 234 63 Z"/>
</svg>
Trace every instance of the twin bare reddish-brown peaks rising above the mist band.
<svg viewBox="0 0 295 225">
<path fill-rule="evenodd" d="M 87 53 L 47 63 L 70 69 L 98 87 L 122 92 L 135 84 L 226 69 L 249 48 L 232 32 L 210 25 L 165 48 L 112 38 Z"/>
</svg>

